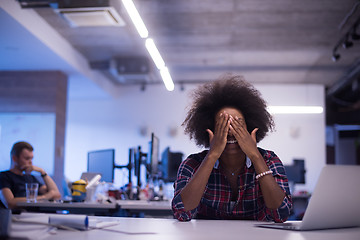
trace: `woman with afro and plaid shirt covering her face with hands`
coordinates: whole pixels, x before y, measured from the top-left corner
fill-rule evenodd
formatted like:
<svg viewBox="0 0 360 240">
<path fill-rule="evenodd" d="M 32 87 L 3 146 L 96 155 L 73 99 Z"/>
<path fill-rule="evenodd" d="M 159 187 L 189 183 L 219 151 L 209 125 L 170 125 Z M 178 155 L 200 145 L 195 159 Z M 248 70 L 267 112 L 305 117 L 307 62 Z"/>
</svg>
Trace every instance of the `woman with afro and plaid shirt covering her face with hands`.
<svg viewBox="0 0 360 240">
<path fill-rule="evenodd" d="M 179 167 L 172 200 L 178 220 L 286 221 L 292 201 L 283 164 L 257 147 L 273 120 L 252 85 L 228 75 L 201 86 L 183 125 L 208 150 Z"/>
</svg>

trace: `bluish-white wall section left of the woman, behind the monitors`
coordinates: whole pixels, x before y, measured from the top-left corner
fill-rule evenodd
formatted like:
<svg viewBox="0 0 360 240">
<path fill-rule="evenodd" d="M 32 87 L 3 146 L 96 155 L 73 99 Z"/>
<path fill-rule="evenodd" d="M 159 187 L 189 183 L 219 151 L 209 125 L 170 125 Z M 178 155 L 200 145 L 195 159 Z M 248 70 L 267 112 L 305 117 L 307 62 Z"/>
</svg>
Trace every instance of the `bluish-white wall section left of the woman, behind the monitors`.
<svg viewBox="0 0 360 240">
<path fill-rule="evenodd" d="M 186 90 L 189 89 L 187 86 Z M 116 163 L 126 164 L 130 147 L 140 145 L 144 152 L 148 151 L 151 132 L 160 139 L 160 153 L 167 146 L 171 151 L 181 151 L 185 155 L 199 151 L 180 127 L 187 102 L 187 91 L 168 92 L 163 85 L 147 86 L 145 91 L 139 86 L 126 87 L 122 96 L 113 100 L 70 99 L 65 143 L 66 176 L 76 180 L 86 171 L 90 150 L 115 148 Z M 140 132 L 144 129 L 146 134 L 142 135 Z M 169 132 L 174 130 L 178 134 L 170 136 Z"/>
</svg>

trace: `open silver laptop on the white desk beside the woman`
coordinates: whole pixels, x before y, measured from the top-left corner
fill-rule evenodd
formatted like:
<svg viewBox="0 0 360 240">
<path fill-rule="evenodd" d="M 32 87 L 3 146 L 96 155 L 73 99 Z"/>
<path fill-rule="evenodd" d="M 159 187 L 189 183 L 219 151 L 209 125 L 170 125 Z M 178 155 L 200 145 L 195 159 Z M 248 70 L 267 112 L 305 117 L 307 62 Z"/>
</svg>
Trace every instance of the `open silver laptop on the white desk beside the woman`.
<svg viewBox="0 0 360 240">
<path fill-rule="evenodd" d="M 286 230 L 320 230 L 360 226 L 360 166 L 326 165 L 302 221 L 256 224 Z"/>
</svg>

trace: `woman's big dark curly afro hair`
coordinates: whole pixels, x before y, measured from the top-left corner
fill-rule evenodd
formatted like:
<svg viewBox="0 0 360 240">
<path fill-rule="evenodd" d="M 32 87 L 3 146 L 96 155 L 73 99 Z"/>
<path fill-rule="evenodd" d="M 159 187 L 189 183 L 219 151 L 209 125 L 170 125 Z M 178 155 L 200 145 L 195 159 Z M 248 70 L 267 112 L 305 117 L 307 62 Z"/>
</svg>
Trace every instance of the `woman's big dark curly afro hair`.
<svg viewBox="0 0 360 240">
<path fill-rule="evenodd" d="M 256 141 L 261 141 L 274 128 L 272 116 L 261 94 L 242 76 L 224 75 L 193 92 L 194 103 L 182 126 L 198 146 L 209 147 L 206 129 L 214 132 L 215 116 L 224 107 L 239 110 L 245 118 L 248 132 L 259 128 Z"/>
</svg>

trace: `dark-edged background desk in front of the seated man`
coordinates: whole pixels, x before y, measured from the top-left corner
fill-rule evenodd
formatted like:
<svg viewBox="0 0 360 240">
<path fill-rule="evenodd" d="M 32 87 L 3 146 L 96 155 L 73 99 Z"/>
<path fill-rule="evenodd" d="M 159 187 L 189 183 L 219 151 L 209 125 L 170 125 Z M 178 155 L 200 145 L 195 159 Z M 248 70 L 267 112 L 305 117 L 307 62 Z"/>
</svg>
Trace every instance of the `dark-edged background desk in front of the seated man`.
<svg viewBox="0 0 360 240">
<path fill-rule="evenodd" d="M 61 202 L 36 202 L 17 203 L 17 206 L 28 212 L 56 213 L 67 211 L 72 214 L 87 214 L 96 216 L 110 216 L 118 211 L 119 206 L 116 203 L 61 203 Z"/>
</svg>

